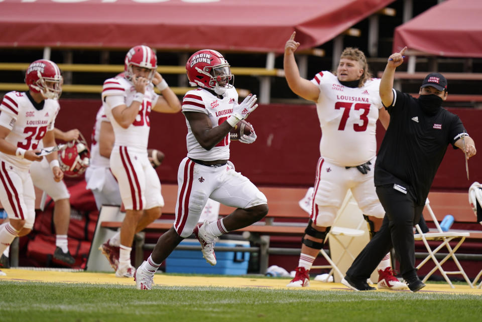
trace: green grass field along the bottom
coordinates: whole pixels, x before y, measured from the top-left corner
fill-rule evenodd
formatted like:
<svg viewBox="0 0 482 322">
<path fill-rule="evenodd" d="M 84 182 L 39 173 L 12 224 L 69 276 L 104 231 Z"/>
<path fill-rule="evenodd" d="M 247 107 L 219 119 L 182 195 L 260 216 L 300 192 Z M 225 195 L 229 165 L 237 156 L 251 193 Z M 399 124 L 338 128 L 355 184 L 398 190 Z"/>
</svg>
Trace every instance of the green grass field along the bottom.
<svg viewBox="0 0 482 322">
<path fill-rule="evenodd" d="M 0 281 L 0 321 L 478 321 L 474 294 Z"/>
</svg>

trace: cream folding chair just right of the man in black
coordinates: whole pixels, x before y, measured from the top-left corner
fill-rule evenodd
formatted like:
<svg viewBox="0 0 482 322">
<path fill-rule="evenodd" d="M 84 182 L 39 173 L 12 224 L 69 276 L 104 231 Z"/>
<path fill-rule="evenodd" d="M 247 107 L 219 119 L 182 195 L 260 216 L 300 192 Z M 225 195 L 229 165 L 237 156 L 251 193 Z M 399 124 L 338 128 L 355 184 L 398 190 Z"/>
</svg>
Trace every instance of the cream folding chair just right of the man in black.
<svg viewBox="0 0 482 322">
<path fill-rule="evenodd" d="M 420 264 L 418 264 L 417 269 L 420 269 L 420 267 L 422 267 L 430 259 L 432 259 L 433 262 L 435 263 L 435 267 L 427 275 L 425 275 L 422 282 L 425 283 L 427 281 L 427 279 L 438 269 L 440 271 L 440 273 L 442 274 L 443 278 L 450 285 L 450 287 L 454 288 L 452 282 L 450 281 L 450 279 L 448 278 L 447 275 L 449 275 L 449 274 L 460 274 L 460 275 L 463 276 L 463 278 L 465 279 L 467 284 L 470 285 L 471 288 L 473 288 L 472 283 L 470 282 L 470 280 L 467 277 L 467 274 L 465 274 L 465 271 L 463 270 L 463 268 L 460 265 L 457 257 L 455 256 L 455 252 L 460 247 L 460 245 L 462 245 L 465 238 L 470 236 L 470 233 L 468 233 L 468 232 L 444 232 L 444 231 L 442 231 L 442 228 L 440 228 L 438 220 L 435 217 L 435 214 L 433 213 L 432 208 L 430 207 L 430 202 L 429 202 L 428 198 L 427 198 L 427 201 L 425 202 L 425 208 L 427 208 L 428 213 L 430 214 L 430 217 L 432 217 L 432 220 L 435 223 L 435 227 L 436 227 L 437 231 L 436 232 L 428 232 L 428 233 L 424 234 L 424 233 L 422 233 L 422 230 L 420 229 L 420 226 L 415 225 L 415 228 L 416 228 L 418 234 L 414 234 L 414 239 L 415 240 L 421 240 L 423 242 L 423 244 L 425 245 L 425 248 L 428 251 L 427 257 L 425 257 L 425 259 L 422 262 L 420 262 Z M 458 239 L 458 238 L 460 238 L 460 240 L 455 245 L 455 247 L 452 249 L 449 242 L 452 241 L 453 239 Z M 435 249 L 432 250 L 432 248 L 428 244 L 429 240 L 441 241 L 441 244 L 438 245 Z M 448 254 L 441 261 L 438 261 L 437 258 L 435 257 L 435 254 L 439 250 L 441 250 L 443 247 L 445 247 L 448 250 Z M 453 259 L 455 265 L 457 265 L 457 267 L 459 269 L 458 271 L 445 271 L 442 268 L 443 263 L 445 263 L 447 261 L 447 259 L 449 259 L 449 258 Z"/>
</svg>

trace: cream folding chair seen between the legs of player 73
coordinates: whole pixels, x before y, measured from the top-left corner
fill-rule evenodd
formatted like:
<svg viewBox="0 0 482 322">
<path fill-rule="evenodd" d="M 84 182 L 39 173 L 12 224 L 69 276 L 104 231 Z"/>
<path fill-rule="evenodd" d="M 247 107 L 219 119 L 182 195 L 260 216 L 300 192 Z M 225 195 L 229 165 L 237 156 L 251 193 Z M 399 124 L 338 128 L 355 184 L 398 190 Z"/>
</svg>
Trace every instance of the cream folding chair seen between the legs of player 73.
<svg viewBox="0 0 482 322">
<path fill-rule="evenodd" d="M 340 282 L 345 276 L 346 269 L 370 240 L 362 211 L 358 208 L 350 191 L 345 196 L 333 226 L 325 236 L 325 242 L 327 240 L 329 240 L 331 257 L 324 249 L 320 250 L 320 254 L 326 259 L 328 265 L 314 265 L 311 268 L 330 268 L 328 274 L 333 275 L 335 282 Z M 335 272 L 336 275 L 334 275 Z"/>
</svg>

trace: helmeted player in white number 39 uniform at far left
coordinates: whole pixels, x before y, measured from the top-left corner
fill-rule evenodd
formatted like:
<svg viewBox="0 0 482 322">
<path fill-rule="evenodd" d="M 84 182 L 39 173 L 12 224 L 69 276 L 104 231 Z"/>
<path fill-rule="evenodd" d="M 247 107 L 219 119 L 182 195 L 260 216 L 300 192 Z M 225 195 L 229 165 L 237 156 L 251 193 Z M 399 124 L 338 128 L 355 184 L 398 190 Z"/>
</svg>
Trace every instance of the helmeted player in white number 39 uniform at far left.
<svg viewBox="0 0 482 322">
<path fill-rule="evenodd" d="M 42 160 L 37 148 L 54 146 L 54 123 L 60 106 L 62 76 L 46 59 L 30 64 L 28 92 L 9 92 L 0 105 L 0 202 L 10 221 L 0 225 L 0 254 L 17 236 L 27 235 L 35 221 L 35 192 L 29 168 Z M 46 155 L 54 180 L 63 178 L 57 152 Z"/>
</svg>

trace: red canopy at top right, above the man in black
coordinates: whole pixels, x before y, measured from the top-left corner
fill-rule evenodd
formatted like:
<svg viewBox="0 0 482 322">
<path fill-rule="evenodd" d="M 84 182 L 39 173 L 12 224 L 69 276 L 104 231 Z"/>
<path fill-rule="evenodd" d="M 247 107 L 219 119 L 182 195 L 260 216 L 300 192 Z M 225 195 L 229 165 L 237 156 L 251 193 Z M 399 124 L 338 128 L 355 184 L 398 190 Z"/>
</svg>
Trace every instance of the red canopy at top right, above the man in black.
<svg viewBox="0 0 482 322">
<path fill-rule="evenodd" d="M 394 52 L 482 57 L 482 1 L 447 0 L 395 29 Z"/>
</svg>

